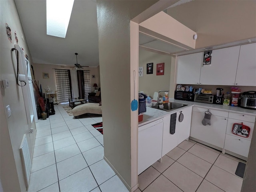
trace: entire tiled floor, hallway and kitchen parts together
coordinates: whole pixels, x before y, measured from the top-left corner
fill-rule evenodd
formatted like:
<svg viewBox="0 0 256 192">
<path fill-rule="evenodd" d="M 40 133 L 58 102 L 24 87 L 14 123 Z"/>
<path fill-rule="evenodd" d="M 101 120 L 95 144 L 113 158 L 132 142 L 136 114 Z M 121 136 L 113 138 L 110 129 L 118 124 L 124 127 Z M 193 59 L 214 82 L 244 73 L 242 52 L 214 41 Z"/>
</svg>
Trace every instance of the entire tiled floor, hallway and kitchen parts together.
<svg viewBox="0 0 256 192">
<path fill-rule="evenodd" d="M 64 104 L 67 105 L 67 104 Z M 55 115 L 36 123 L 29 192 L 127 192 L 103 159 L 103 135 L 92 124 L 99 115 L 74 119 L 54 105 Z M 197 143 L 183 141 L 139 177 L 135 192 L 239 192 L 235 175 L 245 161 Z"/>
</svg>

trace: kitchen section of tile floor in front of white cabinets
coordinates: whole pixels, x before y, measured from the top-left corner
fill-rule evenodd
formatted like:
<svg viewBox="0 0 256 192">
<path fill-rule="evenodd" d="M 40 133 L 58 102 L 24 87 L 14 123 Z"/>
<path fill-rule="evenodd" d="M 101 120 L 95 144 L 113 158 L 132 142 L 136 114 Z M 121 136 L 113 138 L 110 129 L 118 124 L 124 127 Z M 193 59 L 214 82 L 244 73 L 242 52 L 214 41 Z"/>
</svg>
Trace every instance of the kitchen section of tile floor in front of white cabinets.
<svg viewBox="0 0 256 192">
<path fill-rule="evenodd" d="M 235 175 L 241 159 L 197 143 L 183 141 L 144 172 L 136 192 L 240 192 Z"/>
</svg>

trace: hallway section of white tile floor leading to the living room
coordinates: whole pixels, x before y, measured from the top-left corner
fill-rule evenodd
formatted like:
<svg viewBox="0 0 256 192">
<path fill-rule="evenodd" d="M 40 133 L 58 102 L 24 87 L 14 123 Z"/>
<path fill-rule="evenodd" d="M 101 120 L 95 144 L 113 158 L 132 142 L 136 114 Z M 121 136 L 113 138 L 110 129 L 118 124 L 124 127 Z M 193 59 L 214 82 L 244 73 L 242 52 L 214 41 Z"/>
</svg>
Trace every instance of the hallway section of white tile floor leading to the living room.
<svg viewBox="0 0 256 192">
<path fill-rule="evenodd" d="M 55 115 L 36 123 L 29 192 L 127 192 L 103 159 L 103 135 L 92 124 L 100 115 L 75 119 L 54 105 Z"/>
</svg>

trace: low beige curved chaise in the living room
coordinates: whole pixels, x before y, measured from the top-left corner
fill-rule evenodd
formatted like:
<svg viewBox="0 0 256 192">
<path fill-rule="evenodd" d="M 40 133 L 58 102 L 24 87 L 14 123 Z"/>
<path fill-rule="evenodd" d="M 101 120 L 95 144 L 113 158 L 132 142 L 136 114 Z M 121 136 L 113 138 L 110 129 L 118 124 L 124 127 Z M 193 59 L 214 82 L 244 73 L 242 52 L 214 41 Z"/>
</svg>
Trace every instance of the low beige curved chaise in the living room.
<svg viewBox="0 0 256 192">
<path fill-rule="evenodd" d="M 78 116 L 86 113 L 102 114 L 102 106 L 99 106 L 98 103 L 85 103 L 74 107 L 72 113 L 76 119 Z"/>
</svg>

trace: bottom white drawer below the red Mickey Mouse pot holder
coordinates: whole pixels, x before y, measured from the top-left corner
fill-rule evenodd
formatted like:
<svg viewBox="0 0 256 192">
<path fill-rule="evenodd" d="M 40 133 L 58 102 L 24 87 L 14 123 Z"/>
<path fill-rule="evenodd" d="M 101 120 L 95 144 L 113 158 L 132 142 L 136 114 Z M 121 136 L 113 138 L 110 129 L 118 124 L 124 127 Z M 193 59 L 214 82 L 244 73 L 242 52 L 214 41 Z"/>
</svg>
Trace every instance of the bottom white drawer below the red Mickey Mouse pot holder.
<svg viewBox="0 0 256 192">
<path fill-rule="evenodd" d="M 226 134 L 224 149 L 248 157 L 251 141 Z"/>
</svg>

